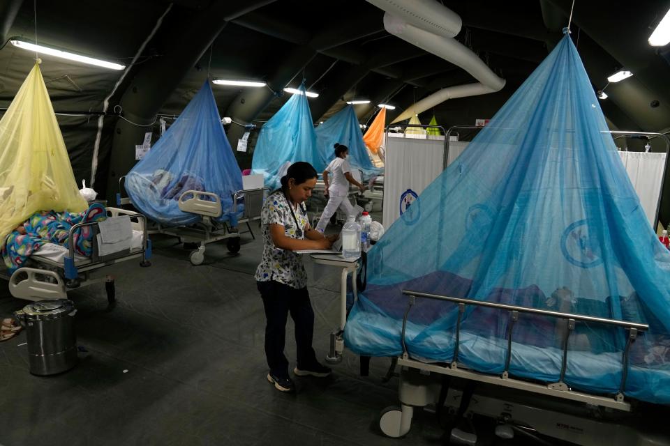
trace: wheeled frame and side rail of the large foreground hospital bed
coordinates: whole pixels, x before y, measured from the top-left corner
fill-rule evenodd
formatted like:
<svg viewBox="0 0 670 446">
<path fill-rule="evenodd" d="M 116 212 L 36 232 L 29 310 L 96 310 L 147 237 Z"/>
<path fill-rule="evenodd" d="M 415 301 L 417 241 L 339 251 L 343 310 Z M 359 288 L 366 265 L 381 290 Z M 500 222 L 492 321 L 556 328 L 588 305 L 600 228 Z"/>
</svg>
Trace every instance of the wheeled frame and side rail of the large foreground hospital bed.
<svg viewBox="0 0 670 446">
<path fill-rule="evenodd" d="M 408 309 L 403 318 L 403 330 L 401 334 L 403 354 L 401 357 L 395 358 L 392 365 L 392 368 L 396 364 L 401 367 L 399 381 L 401 406 L 392 406 L 382 410 L 380 429 L 386 436 L 392 438 L 405 436 L 410 430 L 414 409 L 433 405 L 436 408 L 446 407 L 452 413 L 457 413 L 459 417 L 471 416 L 472 414 L 493 417 L 498 420 L 501 426 L 505 426 L 500 431 L 501 433 L 505 431 L 507 435 L 509 433 L 514 435 L 514 431 L 518 433 L 531 431 L 532 433 L 526 434 L 532 436 L 533 433 L 540 433 L 545 436 L 585 446 L 604 444 L 611 446 L 670 445 L 670 433 L 667 431 L 663 431 L 662 429 L 658 433 L 643 431 L 636 429 L 634 424 L 628 424 L 621 417 L 610 417 L 611 420 L 607 420 L 607 417 L 602 416 L 603 413 L 606 414 L 607 410 L 611 411 L 611 409 L 620 410 L 623 413 L 632 412 L 634 407 L 630 401 L 625 399 L 623 393 L 627 377 L 630 346 L 641 332 L 648 330 L 648 325 L 579 314 L 517 307 L 494 302 L 450 298 L 418 291 L 403 291 L 403 294 L 408 295 Z M 454 360 L 450 364 L 426 363 L 413 359 L 408 355 L 405 346 L 405 328 L 408 314 L 416 298 L 446 300 L 459 305 L 459 317 L 456 322 L 455 334 L 456 351 L 454 352 Z M 509 314 L 510 330 L 508 331 L 507 339 L 507 362 L 505 364 L 505 371 L 500 376 L 472 371 L 463 367 L 463 364 L 458 360 L 461 318 L 465 312 L 466 305 L 493 307 L 502 309 Z M 509 369 L 512 349 L 511 327 L 518 320 L 520 312 L 560 318 L 565 321 L 567 330 L 565 330 L 563 338 L 563 364 L 560 378 L 556 383 L 543 385 L 509 376 L 507 370 Z M 568 338 L 574 329 L 576 321 L 590 321 L 613 325 L 624 328 L 629 333 L 623 352 L 623 374 L 620 391 L 613 397 L 602 394 L 576 392 L 571 390 L 564 382 L 567 366 Z M 488 386 L 498 390 L 498 392 L 497 394 L 493 392 L 493 397 L 490 392 L 487 394 L 486 391 L 478 392 L 475 395 L 470 392 L 468 397 L 463 398 L 465 392 L 449 387 L 449 393 L 445 394 L 446 398 L 440 400 L 439 395 L 442 391 L 441 387 L 444 385 L 445 378 L 443 377 L 445 376 L 449 378 L 461 378 L 466 383 L 476 382 L 479 383 L 480 387 L 483 386 L 485 388 Z M 500 394 L 502 394 L 502 397 L 500 397 Z M 542 400 L 536 397 L 534 404 L 533 395 L 542 397 Z M 529 403 L 528 401 L 531 402 Z M 542 404 L 537 404 L 538 401 L 542 401 Z M 440 405 L 442 406 L 440 407 Z M 498 434 L 498 428 L 496 429 L 496 433 Z M 461 431 L 458 427 L 454 427 L 449 435 L 450 440 L 454 444 L 475 445 L 477 441 L 475 433 Z"/>
</svg>

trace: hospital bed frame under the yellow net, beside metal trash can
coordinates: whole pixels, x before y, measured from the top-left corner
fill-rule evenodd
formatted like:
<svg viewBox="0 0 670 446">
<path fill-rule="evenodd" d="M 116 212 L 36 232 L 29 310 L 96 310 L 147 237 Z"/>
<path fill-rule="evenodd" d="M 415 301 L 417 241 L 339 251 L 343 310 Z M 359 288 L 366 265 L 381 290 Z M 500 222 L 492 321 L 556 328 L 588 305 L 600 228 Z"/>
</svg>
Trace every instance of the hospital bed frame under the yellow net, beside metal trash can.
<svg viewBox="0 0 670 446">
<path fill-rule="evenodd" d="M 128 216 L 131 220 L 132 238 L 130 247 L 116 252 L 101 252 L 97 235 L 98 222 L 75 224 L 70 228 L 65 247 L 47 243 L 31 254 L 29 265 L 18 268 L 12 274 L 0 272 L 8 280 L 9 291 L 15 298 L 25 300 L 52 300 L 67 298 L 70 290 L 105 282 L 107 301 L 115 301 L 114 278 L 101 275 L 103 268 L 133 259 L 140 259 L 140 266 L 151 263 L 151 240 L 147 234 L 147 217 L 133 211 L 107 208 L 107 217 Z M 84 226 L 92 226 L 94 237 L 91 256 L 75 254 L 75 233 Z"/>
</svg>

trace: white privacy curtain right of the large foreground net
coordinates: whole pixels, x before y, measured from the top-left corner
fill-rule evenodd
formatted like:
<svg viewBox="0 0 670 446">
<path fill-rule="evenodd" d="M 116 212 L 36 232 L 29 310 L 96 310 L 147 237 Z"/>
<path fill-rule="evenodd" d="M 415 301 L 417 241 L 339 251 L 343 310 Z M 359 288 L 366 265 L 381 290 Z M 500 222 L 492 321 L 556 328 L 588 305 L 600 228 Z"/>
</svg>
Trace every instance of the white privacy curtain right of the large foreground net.
<svg viewBox="0 0 670 446">
<path fill-rule="evenodd" d="M 651 226 L 656 229 L 656 208 L 661 194 L 665 153 L 619 152 L 628 176 Z"/>
</svg>

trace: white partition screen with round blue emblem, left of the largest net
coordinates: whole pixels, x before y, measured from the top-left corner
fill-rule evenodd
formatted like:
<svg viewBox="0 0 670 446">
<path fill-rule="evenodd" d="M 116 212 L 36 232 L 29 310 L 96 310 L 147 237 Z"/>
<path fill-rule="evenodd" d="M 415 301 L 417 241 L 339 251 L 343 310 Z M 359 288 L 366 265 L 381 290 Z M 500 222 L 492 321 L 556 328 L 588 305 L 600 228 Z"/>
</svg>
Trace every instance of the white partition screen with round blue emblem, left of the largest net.
<svg viewBox="0 0 670 446">
<path fill-rule="evenodd" d="M 431 139 L 386 135 L 382 224 L 388 228 L 406 206 L 442 173 L 444 137 Z"/>
</svg>

